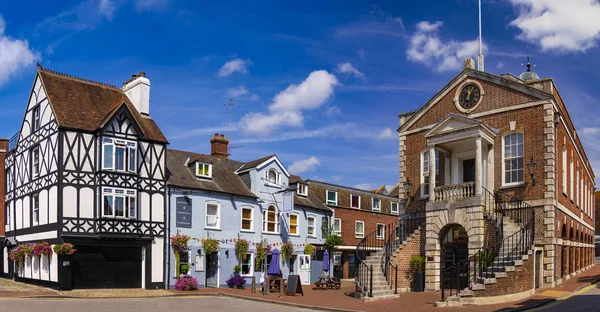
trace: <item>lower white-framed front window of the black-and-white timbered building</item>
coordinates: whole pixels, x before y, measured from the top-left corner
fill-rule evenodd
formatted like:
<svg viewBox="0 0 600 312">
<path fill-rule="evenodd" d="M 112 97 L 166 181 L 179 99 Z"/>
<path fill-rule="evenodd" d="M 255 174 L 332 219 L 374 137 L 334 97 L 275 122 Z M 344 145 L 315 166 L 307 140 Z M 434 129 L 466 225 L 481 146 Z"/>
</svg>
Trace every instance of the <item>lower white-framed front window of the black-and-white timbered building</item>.
<svg viewBox="0 0 600 312">
<path fill-rule="evenodd" d="M 102 216 L 135 219 L 137 192 L 135 190 L 105 187 L 102 189 Z"/>
</svg>

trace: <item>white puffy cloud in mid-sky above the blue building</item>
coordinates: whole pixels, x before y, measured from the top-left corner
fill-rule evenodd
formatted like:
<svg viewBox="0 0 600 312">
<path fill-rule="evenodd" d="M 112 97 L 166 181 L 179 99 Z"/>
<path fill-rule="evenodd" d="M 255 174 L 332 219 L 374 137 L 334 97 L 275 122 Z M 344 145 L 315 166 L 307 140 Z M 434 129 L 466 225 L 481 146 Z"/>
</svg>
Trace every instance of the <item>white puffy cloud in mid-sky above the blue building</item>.
<svg viewBox="0 0 600 312">
<path fill-rule="evenodd" d="M 251 134 L 267 135 L 279 127 L 304 125 L 303 110 L 320 108 L 338 85 L 337 78 L 325 70 L 317 70 L 299 85 L 292 84 L 279 92 L 269 105 L 269 113 L 250 113 L 242 117 L 242 129 Z"/>
</svg>

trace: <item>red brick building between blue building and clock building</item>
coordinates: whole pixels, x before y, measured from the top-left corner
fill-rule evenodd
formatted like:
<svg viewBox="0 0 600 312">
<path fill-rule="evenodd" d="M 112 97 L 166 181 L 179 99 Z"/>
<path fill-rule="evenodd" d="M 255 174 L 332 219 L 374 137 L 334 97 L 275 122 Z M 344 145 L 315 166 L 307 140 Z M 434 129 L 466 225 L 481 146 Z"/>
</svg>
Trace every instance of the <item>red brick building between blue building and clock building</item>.
<svg viewBox="0 0 600 312">
<path fill-rule="evenodd" d="M 311 196 L 334 211 L 333 230 L 343 241 L 332 255 L 334 275 L 354 278 L 356 246 L 370 233 L 377 232 L 375 239 L 384 240 L 385 227 L 398 221 L 398 197 L 383 191 L 365 191 L 314 180 L 306 183 Z"/>
</svg>

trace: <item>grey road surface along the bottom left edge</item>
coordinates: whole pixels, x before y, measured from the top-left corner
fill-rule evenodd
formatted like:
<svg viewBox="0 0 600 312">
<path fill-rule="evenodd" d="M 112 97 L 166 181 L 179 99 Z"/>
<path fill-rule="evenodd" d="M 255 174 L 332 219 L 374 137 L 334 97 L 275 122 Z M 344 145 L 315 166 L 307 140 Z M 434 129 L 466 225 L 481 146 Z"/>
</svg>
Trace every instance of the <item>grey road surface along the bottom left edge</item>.
<svg viewBox="0 0 600 312">
<path fill-rule="evenodd" d="M 153 299 L 0 299 L 0 311 L 309 311 L 225 297 L 171 297 Z"/>
</svg>

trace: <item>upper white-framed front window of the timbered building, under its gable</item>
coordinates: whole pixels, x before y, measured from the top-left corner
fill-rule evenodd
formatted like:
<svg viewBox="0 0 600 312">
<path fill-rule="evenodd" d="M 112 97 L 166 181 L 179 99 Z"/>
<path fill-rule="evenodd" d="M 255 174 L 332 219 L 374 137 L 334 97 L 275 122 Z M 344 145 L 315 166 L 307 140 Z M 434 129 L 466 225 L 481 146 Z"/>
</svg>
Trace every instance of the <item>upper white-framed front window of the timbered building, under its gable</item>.
<svg viewBox="0 0 600 312">
<path fill-rule="evenodd" d="M 121 139 L 102 139 L 102 169 L 136 172 L 137 143 Z"/>
</svg>

